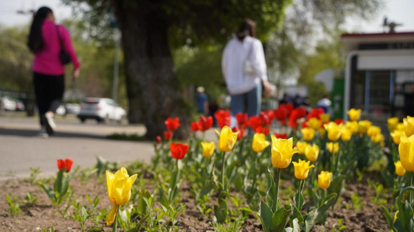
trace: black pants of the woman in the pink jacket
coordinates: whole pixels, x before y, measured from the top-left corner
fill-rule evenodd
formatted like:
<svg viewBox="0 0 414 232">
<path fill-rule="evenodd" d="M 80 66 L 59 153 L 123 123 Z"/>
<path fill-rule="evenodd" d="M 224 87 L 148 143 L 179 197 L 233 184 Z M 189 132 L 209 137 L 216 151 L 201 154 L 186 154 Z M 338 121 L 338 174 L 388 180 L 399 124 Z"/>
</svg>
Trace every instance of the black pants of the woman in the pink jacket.
<svg viewBox="0 0 414 232">
<path fill-rule="evenodd" d="M 40 124 L 45 125 L 43 116 L 46 112 L 56 113 L 61 105 L 63 92 L 65 91 L 65 76 L 51 76 L 33 73 L 34 94 L 39 109 Z"/>
</svg>

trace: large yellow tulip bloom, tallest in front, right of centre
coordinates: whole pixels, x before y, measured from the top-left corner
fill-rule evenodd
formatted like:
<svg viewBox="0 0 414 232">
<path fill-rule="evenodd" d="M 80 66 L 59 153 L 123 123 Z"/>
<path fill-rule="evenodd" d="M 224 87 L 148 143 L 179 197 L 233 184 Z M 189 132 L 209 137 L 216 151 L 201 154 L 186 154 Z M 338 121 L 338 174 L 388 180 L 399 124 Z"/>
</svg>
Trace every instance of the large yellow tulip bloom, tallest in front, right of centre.
<svg viewBox="0 0 414 232">
<path fill-rule="evenodd" d="M 293 138 L 283 139 L 272 136 L 272 165 L 284 169 L 290 165 L 292 156 L 299 152 L 298 147 L 293 148 Z"/>
</svg>

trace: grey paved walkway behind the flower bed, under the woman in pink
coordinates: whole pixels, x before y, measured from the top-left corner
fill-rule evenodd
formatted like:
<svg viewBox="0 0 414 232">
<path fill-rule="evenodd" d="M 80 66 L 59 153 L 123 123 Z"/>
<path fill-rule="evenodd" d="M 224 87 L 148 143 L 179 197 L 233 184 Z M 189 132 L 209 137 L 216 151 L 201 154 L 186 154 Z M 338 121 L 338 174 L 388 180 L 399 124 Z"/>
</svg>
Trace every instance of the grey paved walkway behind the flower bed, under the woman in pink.
<svg viewBox="0 0 414 232">
<path fill-rule="evenodd" d="M 56 121 L 56 135 L 44 139 L 37 137 L 37 118 L 0 117 L 0 180 L 29 176 L 30 167 L 39 167 L 43 176 L 50 176 L 56 173 L 59 158 L 70 157 L 74 165 L 91 167 L 96 156 L 118 162 L 149 162 L 154 153 L 152 143 L 106 139 L 113 133 L 144 134 L 143 126 L 98 125 L 95 121 L 81 124 L 76 118 Z"/>
</svg>

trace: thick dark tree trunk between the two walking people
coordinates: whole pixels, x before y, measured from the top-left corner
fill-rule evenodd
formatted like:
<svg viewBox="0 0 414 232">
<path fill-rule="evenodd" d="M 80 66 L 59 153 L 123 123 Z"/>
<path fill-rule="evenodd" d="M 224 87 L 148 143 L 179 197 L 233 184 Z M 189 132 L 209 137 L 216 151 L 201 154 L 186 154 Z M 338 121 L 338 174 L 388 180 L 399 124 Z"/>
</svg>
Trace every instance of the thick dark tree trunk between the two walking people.
<svg viewBox="0 0 414 232">
<path fill-rule="evenodd" d="M 166 130 L 164 120 L 177 116 L 175 137 L 188 137 L 189 111 L 173 71 L 164 11 L 142 1 L 112 3 L 122 34 L 130 123 L 144 123 L 146 136 L 155 138 Z"/>
</svg>

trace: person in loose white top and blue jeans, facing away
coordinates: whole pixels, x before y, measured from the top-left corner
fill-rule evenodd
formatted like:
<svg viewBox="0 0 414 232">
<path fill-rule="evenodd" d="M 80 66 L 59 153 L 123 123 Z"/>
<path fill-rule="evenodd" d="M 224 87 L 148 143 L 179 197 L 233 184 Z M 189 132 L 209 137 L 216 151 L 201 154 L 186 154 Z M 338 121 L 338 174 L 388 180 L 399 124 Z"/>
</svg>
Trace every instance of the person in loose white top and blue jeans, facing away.
<svg viewBox="0 0 414 232">
<path fill-rule="evenodd" d="M 249 117 L 259 114 L 262 84 L 265 95 L 271 92 L 263 45 L 255 38 L 255 31 L 256 23 L 245 19 L 237 34 L 228 41 L 221 59 L 233 118 L 237 113 L 247 112 Z"/>
</svg>

